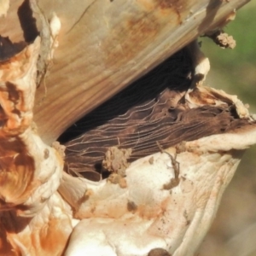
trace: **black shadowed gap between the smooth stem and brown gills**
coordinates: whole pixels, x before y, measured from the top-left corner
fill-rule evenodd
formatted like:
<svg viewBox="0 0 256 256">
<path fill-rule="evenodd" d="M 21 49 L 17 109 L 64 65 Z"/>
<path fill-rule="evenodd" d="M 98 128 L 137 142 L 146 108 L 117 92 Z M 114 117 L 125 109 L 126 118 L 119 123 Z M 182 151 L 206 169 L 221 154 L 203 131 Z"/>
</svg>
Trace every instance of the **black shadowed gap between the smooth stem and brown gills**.
<svg viewBox="0 0 256 256">
<path fill-rule="evenodd" d="M 181 68 L 181 63 L 183 66 Z M 184 63 L 187 63 L 184 65 Z M 65 131 L 59 141 L 67 143 L 75 137 L 104 125 L 135 106 L 148 101 L 157 101 L 157 97 L 166 88 L 172 90 L 187 90 L 191 78 L 191 62 L 186 50 L 179 51 L 169 59 L 155 67 L 151 72 L 120 91 L 107 102 L 84 116 Z"/>
</svg>

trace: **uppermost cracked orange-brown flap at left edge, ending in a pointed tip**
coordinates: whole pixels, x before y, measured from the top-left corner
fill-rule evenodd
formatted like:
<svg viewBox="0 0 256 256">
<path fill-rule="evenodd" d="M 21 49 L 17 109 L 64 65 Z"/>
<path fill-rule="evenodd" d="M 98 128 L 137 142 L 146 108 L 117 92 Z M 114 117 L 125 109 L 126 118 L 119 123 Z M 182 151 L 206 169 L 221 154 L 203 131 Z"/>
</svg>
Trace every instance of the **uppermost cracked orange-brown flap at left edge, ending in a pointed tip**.
<svg viewBox="0 0 256 256">
<path fill-rule="evenodd" d="M 33 85 L 33 74 L 36 68 L 33 65 L 38 57 L 40 40 L 37 38 L 34 44 L 28 45 L 20 53 L 1 62 L 1 81 L 0 90 L 2 129 L 0 134 L 5 137 L 17 136 L 26 131 L 32 123 L 32 107 L 35 88 Z M 22 79 L 21 79 L 22 78 Z M 20 80 L 21 79 L 21 80 Z M 24 86 L 23 81 L 29 81 Z M 29 85 L 28 85 L 29 84 Z M 1 111 L 1 112 L 2 112 Z"/>
</svg>

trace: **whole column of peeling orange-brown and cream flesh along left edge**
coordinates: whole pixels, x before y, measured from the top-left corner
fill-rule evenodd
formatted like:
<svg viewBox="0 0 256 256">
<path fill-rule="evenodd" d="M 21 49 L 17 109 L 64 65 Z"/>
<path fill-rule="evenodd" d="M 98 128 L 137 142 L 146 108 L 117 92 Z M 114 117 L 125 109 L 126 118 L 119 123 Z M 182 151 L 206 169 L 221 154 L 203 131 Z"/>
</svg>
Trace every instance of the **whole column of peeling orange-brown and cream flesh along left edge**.
<svg viewBox="0 0 256 256">
<path fill-rule="evenodd" d="M 0 62 L 1 255 L 61 255 L 72 231 L 71 212 L 55 192 L 62 161 L 31 127 L 39 46 L 38 38 Z"/>
</svg>

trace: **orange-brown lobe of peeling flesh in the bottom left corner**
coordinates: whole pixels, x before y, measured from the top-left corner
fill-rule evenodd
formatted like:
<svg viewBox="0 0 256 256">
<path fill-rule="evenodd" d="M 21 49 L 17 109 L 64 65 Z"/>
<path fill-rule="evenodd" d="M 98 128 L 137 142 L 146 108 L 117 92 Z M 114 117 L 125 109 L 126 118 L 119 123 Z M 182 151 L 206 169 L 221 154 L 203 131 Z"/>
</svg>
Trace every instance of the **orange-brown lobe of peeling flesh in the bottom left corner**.
<svg viewBox="0 0 256 256">
<path fill-rule="evenodd" d="M 47 206 L 38 213 L 38 218 L 22 218 L 15 211 L 0 212 L 0 255 L 61 255 L 72 226 L 65 209 L 55 207 L 60 210 L 58 217 Z M 35 226 L 33 230 L 26 228 Z"/>
</svg>

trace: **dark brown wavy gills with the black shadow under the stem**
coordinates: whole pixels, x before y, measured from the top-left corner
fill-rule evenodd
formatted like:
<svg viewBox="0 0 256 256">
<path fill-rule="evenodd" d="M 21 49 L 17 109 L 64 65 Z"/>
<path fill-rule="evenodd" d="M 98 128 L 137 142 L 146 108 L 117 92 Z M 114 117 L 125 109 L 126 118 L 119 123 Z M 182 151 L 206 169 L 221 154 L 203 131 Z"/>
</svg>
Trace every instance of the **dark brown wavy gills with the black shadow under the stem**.
<svg viewBox="0 0 256 256">
<path fill-rule="evenodd" d="M 80 119 L 61 137 L 66 171 L 99 180 L 108 177 L 102 160 L 110 147 L 131 148 L 129 161 L 247 124 L 234 106 L 189 108 L 183 95 L 193 67 L 183 49 Z"/>
</svg>

